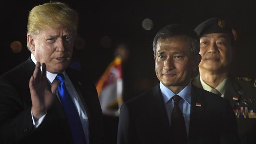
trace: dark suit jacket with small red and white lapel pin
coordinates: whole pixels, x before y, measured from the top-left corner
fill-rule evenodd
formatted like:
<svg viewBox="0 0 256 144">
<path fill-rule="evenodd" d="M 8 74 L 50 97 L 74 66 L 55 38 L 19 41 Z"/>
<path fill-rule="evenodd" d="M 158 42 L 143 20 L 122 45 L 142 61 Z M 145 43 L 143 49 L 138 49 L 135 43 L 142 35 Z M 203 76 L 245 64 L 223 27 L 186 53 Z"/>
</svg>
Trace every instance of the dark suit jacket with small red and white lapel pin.
<svg viewBox="0 0 256 144">
<path fill-rule="evenodd" d="M 196 103 L 201 103 L 197 107 Z M 189 144 L 236 144 L 236 119 L 229 102 L 192 85 Z M 117 144 L 173 144 L 159 85 L 121 106 Z"/>
</svg>

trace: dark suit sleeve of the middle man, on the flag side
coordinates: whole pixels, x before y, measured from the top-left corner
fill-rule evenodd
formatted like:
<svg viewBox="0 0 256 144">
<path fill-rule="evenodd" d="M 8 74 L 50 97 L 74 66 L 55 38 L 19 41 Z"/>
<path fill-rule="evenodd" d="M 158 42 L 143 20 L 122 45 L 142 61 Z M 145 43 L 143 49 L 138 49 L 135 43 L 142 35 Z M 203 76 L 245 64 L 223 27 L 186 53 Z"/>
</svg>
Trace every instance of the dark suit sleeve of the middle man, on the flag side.
<svg viewBox="0 0 256 144">
<path fill-rule="evenodd" d="M 129 108 L 123 103 L 120 108 L 117 144 L 138 144 L 134 127 Z"/>
</svg>

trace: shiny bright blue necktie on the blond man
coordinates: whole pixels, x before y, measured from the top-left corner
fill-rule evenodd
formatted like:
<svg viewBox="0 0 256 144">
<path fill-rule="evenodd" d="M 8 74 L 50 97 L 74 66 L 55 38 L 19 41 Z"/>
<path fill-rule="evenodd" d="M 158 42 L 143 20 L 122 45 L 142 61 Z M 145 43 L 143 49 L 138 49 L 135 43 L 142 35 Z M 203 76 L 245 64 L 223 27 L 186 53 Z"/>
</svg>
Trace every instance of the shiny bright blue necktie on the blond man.
<svg viewBox="0 0 256 144">
<path fill-rule="evenodd" d="M 70 97 L 69 92 L 67 91 L 63 74 L 58 74 L 56 79 L 59 81 L 59 99 L 67 116 L 69 127 L 74 139 L 74 144 L 86 144 L 82 123 L 78 111 Z"/>
</svg>

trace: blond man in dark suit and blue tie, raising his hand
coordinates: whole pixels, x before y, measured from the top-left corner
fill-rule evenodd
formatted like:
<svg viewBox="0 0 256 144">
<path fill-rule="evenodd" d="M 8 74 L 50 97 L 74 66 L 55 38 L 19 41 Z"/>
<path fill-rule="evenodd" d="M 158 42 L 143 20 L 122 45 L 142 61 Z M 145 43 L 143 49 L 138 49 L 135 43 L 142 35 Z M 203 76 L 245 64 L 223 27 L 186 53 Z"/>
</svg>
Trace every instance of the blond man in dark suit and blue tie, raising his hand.
<svg viewBox="0 0 256 144">
<path fill-rule="evenodd" d="M 87 74 L 69 68 L 78 14 L 51 2 L 28 17 L 31 56 L 0 77 L 0 143 L 101 144 L 102 111 Z M 57 97 L 57 98 L 56 98 Z"/>
</svg>

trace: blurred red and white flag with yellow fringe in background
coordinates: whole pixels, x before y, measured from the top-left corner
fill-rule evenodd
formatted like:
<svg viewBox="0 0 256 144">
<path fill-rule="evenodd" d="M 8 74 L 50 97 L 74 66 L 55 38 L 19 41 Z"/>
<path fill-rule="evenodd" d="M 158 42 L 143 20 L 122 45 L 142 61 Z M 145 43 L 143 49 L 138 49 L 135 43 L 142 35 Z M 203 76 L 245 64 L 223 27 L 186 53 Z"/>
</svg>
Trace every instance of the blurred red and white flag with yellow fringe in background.
<svg viewBox="0 0 256 144">
<path fill-rule="evenodd" d="M 122 60 L 116 57 L 96 83 L 102 113 L 118 116 L 122 104 Z"/>
</svg>

